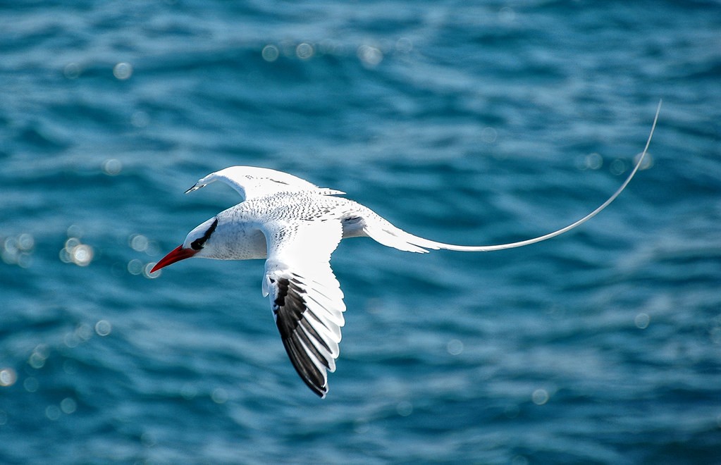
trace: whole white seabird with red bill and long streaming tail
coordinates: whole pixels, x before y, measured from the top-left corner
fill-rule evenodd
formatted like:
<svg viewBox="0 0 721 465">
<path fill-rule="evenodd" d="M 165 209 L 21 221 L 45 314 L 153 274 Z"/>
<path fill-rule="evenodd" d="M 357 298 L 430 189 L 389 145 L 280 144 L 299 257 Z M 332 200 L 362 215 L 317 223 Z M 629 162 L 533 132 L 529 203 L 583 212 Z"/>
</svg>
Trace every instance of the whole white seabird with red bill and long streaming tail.
<svg viewBox="0 0 721 465">
<path fill-rule="evenodd" d="M 656 118 L 659 110 L 660 104 Z M 653 128 L 627 180 L 596 210 L 544 236 L 493 246 L 459 246 L 414 236 L 370 208 L 339 197 L 345 192 L 317 187 L 284 172 L 257 167 L 222 169 L 208 174 L 186 193 L 220 180 L 237 190 L 244 201 L 190 231 L 185 242 L 160 260 L 151 273 L 190 257 L 265 259 L 262 292 L 270 298 L 288 357 L 305 383 L 324 397 L 327 371 L 335 371 L 340 328 L 345 324 L 343 293 L 329 263 L 341 239 L 368 236 L 407 252 L 488 252 L 550 239 L 588 221 L 624 190 L 642 163 Z"/>
</svg>

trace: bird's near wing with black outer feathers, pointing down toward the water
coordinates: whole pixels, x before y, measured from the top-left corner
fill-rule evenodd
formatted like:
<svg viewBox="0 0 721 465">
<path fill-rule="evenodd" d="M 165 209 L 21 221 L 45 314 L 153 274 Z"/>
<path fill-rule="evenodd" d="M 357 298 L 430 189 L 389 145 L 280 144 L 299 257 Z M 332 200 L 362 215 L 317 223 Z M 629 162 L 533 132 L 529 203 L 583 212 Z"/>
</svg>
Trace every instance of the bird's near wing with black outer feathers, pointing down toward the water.
<svg viewBox="0 0 721 465">
<path fill-rule="evenodd" d="M 335 371 L 343 293 L 330 268 L 342 237 L 338 220 L 283 221 L 263 227 L 268 257 L 263 294 L 270 297 L 275 324 L 298 375 L 320 397 Z"/>
</svg>

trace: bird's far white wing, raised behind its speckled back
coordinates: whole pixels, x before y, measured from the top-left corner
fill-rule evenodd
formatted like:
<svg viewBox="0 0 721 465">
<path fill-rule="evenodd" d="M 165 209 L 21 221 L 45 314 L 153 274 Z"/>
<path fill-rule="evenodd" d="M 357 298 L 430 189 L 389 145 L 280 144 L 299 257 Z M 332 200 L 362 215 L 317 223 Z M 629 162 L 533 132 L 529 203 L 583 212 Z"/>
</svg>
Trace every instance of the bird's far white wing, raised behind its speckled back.
<svg viewBox="0 0 721 465">
<path fill-rule="evenodd" d="M 225 182 L 233 187 L 244 200 L 276 192 L 311 190 L 323 195 L 345 194 L 340 190 L 326 189 L 311 184 L 306 180 L 293 176 L 293 174 L 275 171 L 275 169 L 258 167 L 228 167 L 208 174 L 186 190 L 185 193 L 205 187 L 214 181 Z"/>
</svg>

